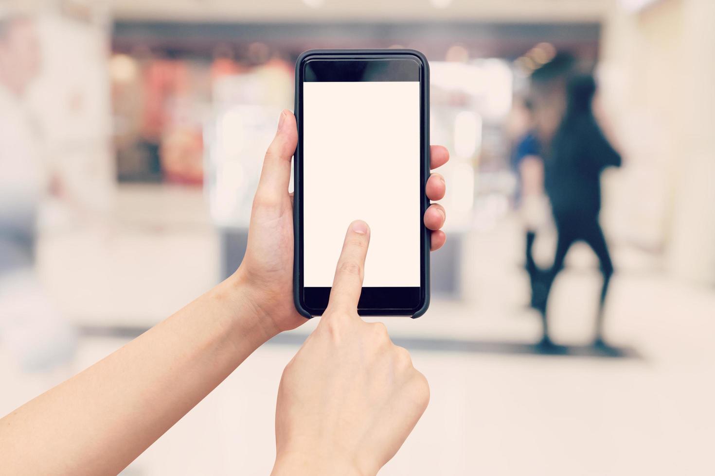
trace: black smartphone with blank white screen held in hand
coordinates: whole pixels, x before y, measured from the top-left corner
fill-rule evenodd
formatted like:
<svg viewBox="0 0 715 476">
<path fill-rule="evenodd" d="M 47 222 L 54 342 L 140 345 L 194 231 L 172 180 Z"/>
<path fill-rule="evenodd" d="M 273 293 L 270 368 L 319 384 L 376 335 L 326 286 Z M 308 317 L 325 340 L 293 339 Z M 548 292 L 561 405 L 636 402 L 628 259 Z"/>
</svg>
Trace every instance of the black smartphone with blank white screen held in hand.
<svg viewBox="0 0 715 476">
<path fill-rule="evenodd" d="M 430 302 L 429 67 L 406 49 L 310 50 L 295 71 L 294 300 L 327 308 L 347 227 L 370 226 L 360 315 Z"/>
</svg>

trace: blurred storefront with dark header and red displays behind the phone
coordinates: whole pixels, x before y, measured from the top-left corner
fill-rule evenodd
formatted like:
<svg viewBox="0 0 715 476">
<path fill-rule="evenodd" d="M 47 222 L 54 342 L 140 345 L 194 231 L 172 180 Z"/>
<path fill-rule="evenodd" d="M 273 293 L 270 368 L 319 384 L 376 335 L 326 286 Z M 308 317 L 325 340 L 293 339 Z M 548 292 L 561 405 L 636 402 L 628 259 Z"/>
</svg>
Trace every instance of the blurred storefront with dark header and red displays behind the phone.
<svg viewBox="0 0 715 476">
<path fill-rule="evenodd" d="M 514 181 L 506 123 L 513 95 L 531 71 L 518 59 L 536 52 L 545 62 L 558 48 L 593 64 L 598 32 L 592 22 L 117 21 L 111 64 L 115 123 L 122 125 L 119 178 L 195 186 L 197 175 L 182 177 L 173 164 L 190 160 L 199 170 L 203 148 L 204 192 L 220 227 L 227 275 L 245 249 L 252 193 L 275 117 L 292 108 L 298 54 L 317 47 L 420 49 L 432 71 L 432 139 L 453 157 L 443 172 L 450 183 L 445 206 L 451 238 L 434 260 L 435 291 L 460 298 L 465 239 L 475 225 L 490 228 L 509 208 Z M 201 131 L 202 141 L 188 139 Z"/>
</svg>

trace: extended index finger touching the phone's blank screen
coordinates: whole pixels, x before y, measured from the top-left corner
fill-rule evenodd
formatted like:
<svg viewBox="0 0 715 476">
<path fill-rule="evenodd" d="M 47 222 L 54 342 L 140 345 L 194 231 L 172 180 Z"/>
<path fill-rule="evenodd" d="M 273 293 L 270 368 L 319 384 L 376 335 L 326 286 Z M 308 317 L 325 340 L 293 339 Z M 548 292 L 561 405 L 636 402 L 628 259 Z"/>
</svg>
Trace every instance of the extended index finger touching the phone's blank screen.
<svg viewBox="0 0 715 476">
<path fill-rule="evenodd" d="M 358 300 L 363 291 L 365 256 L 368 255 L 370 227 L 358 220 L 350 223 L 342 244 L 342 253 L 337 260 L 335 279 L 330 290 L 328 307 L 353 313 L 358 309 Z"/>
</svg>

